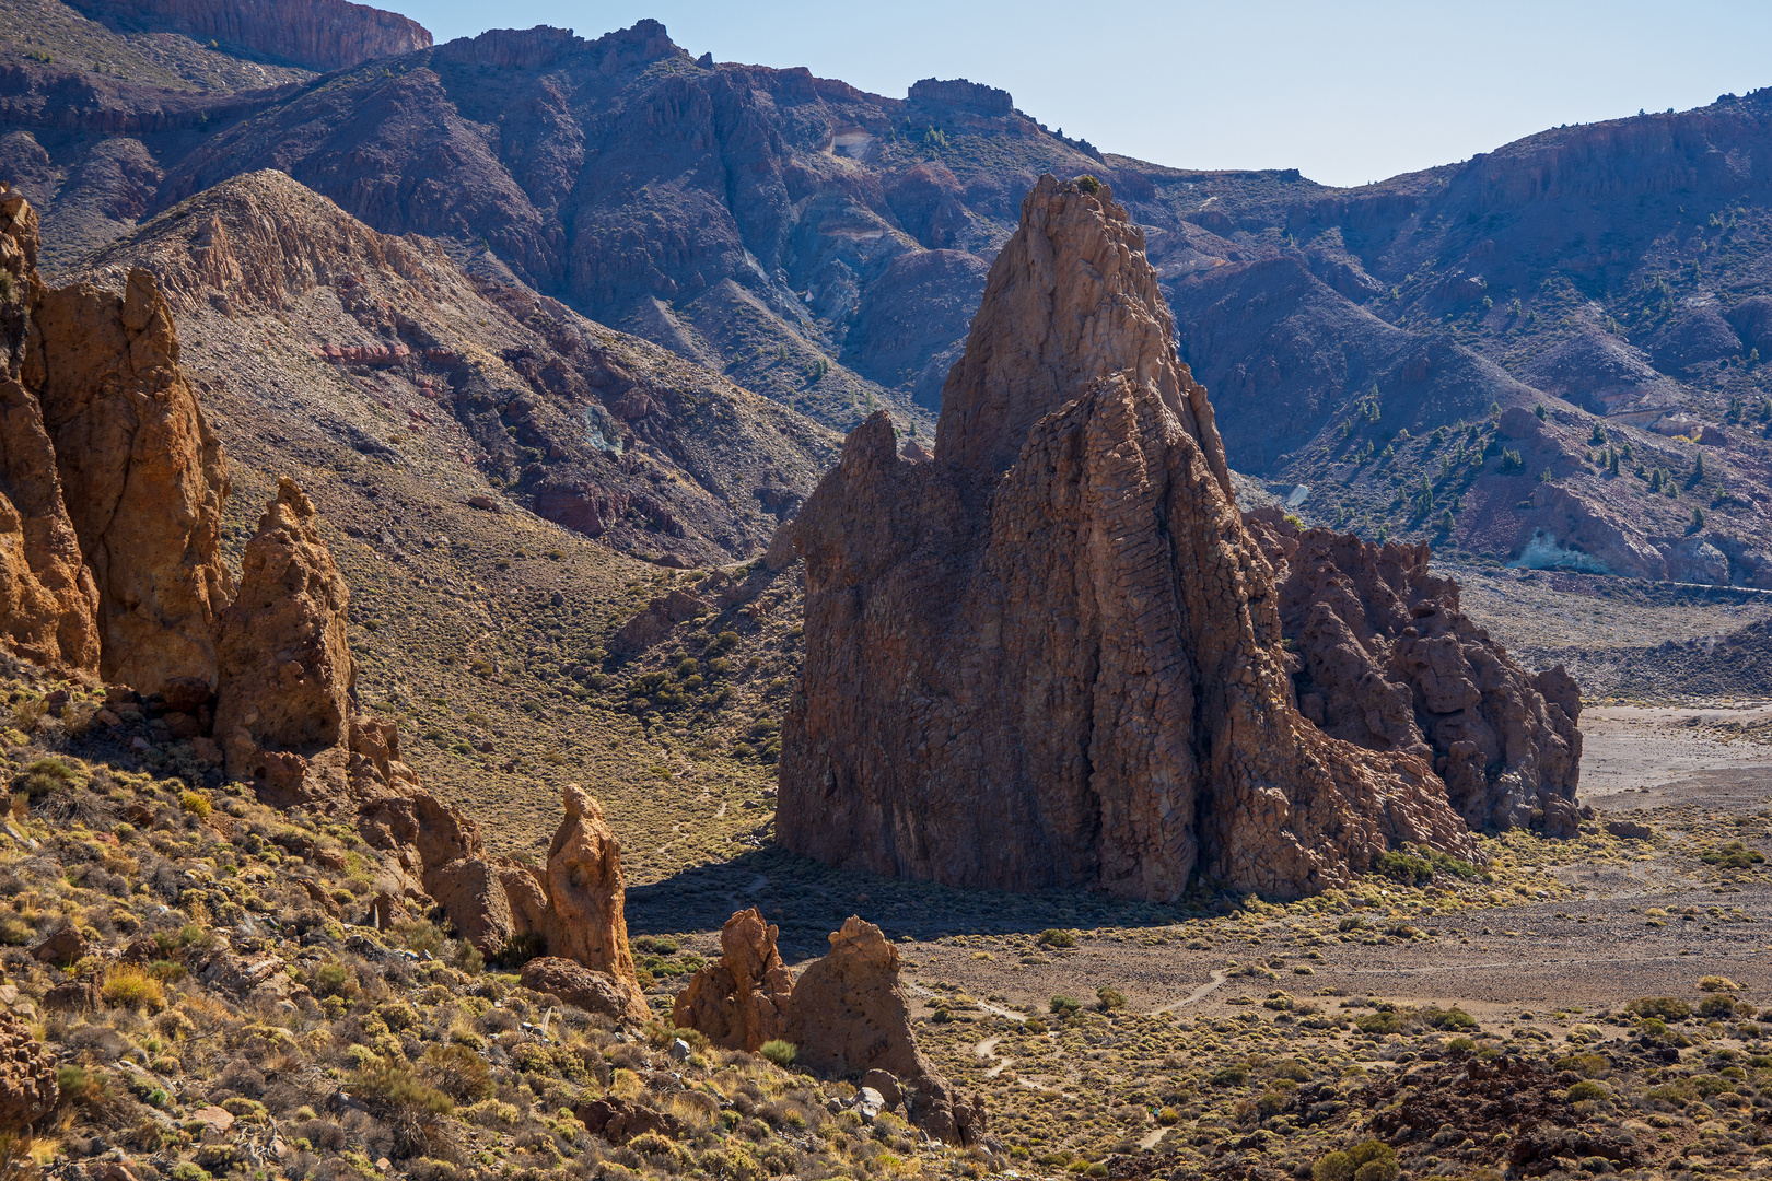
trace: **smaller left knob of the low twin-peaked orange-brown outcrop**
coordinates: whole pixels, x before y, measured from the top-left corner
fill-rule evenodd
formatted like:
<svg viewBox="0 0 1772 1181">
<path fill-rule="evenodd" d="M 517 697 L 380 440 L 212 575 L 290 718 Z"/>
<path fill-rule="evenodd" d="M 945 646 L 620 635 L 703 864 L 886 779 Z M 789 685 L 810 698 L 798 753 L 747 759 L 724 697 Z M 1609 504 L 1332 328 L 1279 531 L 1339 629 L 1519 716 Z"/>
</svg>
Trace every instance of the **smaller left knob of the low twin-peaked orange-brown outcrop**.
<svg viewBox="0 0 1772 1181">
<path fill-rule="evenodd" d="M 723 1050 L 755 1054 L 787 1032 L 794 977 L 776 951 L 780 930 L 755 907 L 719 930 L 719 960 L 698 969 L 677 993 L 672 1023 L 696 1029 Z"/>
</svg>

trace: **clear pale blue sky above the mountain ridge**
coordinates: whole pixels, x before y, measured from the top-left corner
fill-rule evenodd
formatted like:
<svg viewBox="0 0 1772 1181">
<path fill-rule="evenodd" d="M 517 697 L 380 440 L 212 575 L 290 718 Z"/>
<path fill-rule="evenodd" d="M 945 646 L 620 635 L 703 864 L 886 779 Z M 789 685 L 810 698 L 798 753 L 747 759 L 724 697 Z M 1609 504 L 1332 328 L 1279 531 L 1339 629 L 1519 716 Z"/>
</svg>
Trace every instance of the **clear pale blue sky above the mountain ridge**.
<svg viewBox="0 0 1772 1181">
<path fill-rule="evenodd" d="M 1049 127 L 1182 168 L 1299 168 L 1363 184 L 1563 122 L 1685 110 L 1772 85 L 1772 4 L 810 4 L 372 0 L 438 37 L 656 18 L 721 62 L 806 66 L 902 97 L 1003 87 Z"/>
</svg>

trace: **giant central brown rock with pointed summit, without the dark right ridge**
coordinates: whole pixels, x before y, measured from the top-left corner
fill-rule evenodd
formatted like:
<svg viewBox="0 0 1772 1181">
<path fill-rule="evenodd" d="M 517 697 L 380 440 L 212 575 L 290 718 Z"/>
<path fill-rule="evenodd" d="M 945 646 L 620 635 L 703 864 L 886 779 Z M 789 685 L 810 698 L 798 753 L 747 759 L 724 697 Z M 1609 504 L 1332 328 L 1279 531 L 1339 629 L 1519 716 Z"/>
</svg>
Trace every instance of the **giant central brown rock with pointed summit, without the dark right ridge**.
<svg viewBox="0 0 1772 1181">
<path fill-rule="evenodd" d="M 1299 894 L 1474 852 L 1432 767 L 1299 715 L 1272 572 L 1106 188 L 1042 177 L 932 462 L 875 416 L 796 526 L 778 839 L 953 885 Z M 1033 358 L 1033 359 L 1028 359 Z"/>
</svg>

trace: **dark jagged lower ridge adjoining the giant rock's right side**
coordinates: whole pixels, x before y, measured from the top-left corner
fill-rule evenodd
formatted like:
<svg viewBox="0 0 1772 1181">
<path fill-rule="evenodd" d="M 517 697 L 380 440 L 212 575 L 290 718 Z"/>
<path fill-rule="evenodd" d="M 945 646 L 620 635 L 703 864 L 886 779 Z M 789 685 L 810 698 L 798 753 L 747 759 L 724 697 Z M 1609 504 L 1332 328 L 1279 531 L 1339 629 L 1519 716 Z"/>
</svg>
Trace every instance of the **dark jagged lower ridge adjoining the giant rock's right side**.
<svg viewBox="0 0 1772 1181">
<path fill-rule="evenodd" d="M 1428 574 L 1426 545 L 1244 519 L 1274 567 L 1306 717 L 1331 737 L 1434 763 L 1473 829 L 1577 823 L 1581 694 L 1561 666 L 1527 673 Z M 1535 816 L 1536 813 L 1536 816 Z"/>
</svg>

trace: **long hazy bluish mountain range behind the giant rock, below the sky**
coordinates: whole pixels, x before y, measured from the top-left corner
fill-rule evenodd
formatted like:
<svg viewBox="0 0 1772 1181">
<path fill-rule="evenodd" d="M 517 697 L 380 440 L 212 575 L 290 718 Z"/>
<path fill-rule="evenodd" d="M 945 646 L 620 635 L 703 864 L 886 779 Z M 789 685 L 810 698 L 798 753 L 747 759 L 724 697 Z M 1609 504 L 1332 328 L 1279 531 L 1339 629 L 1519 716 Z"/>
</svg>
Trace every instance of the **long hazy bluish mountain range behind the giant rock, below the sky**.
<svg viewBox="0 0 1772 1181">
<path fill-rule="evenodd" d="M 1232 464 L 1294 510 L 1772 586 L 1772 92 L 1336 189 L 1104 156 L 969 81 L 696 60 L 641 21 L 255 94 L 0 71 L 0 136 L 51 267 L 275 168 L 838 430 L 930 425 L 1022 193 L 1088 172 L 1143 227 Z"/>
</svg>

